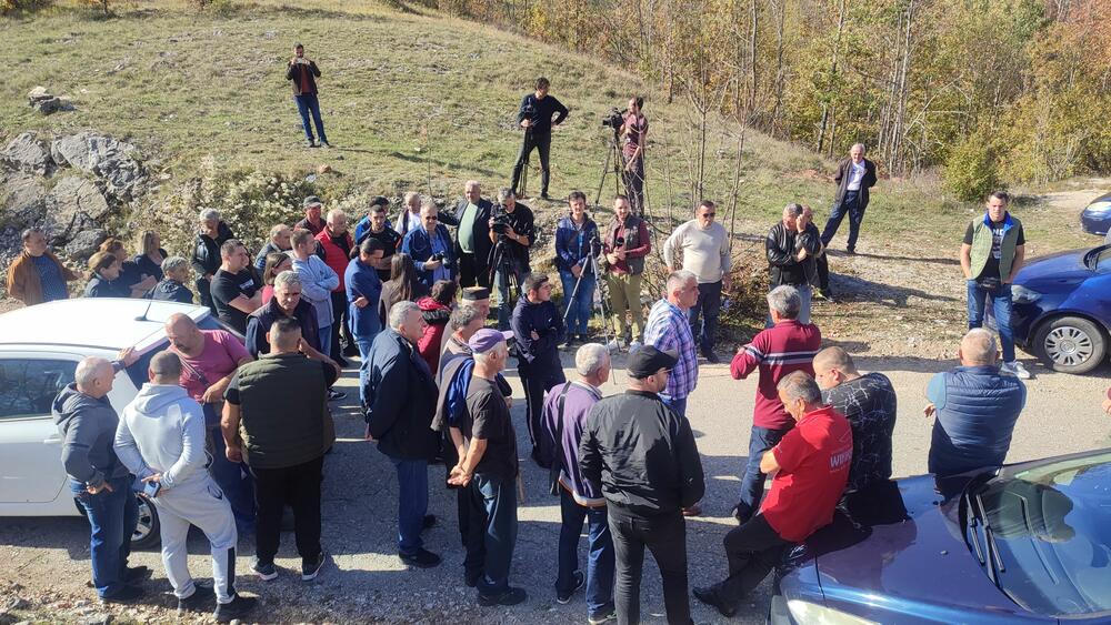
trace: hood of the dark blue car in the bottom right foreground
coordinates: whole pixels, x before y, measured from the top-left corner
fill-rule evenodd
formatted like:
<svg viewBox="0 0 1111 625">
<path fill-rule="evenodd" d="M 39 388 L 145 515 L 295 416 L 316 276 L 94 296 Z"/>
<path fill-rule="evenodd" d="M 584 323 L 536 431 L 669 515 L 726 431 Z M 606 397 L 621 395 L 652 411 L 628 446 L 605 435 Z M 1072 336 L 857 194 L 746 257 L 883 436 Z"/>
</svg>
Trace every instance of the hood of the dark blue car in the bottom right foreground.
<svg viewBox="0 0 1111 625">
<path fill-rule="evenodd" d="M 995 613 L 1029 616 L 989 579 L 964 543 L 958 502 L 967 478 L 888 482 L 807 541 L 829 605 L 878 607 L 908 617 Z M 944 498 L 938 487 L 949 492 Z M 944 621 L 944 618 L 942 618 Z"/>
</svg>

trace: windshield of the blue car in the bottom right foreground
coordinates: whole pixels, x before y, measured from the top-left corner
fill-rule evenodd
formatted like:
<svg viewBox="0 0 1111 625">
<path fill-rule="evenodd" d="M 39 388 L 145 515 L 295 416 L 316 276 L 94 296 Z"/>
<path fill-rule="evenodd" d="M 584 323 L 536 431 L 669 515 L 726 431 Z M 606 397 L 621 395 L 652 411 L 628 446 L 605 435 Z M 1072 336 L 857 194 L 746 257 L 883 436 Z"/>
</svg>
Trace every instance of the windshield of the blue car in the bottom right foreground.
<svg viewBox="0 0 1111 625">
<path fill-rule="evenodd" d="M 968 495 L 972 553 L 1014 603 L 1060 617 L 1111 611 L 1111 451 L 1004 470 Z"/>
</svg>

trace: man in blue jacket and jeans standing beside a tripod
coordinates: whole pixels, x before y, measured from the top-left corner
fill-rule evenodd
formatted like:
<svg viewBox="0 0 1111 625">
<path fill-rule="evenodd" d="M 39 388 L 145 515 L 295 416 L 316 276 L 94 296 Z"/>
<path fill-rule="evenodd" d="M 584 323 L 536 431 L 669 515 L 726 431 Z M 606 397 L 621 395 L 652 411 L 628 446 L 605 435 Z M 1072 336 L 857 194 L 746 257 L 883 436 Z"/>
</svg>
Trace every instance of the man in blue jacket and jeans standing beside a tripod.
<svg viewBox="0 0 1111 625">
<path fill-rule="evenodd" d="M 556 226 L 556 269 L 563 283 L 567 344 L 571 346 L 575 341 L 587 342 L 597 280 L 590 258 L 597 255 L 598 224 L 587 215 L 587 195 L 582 191 L 568 195 L 568 206 L 569 214 Z"/>
</svg>

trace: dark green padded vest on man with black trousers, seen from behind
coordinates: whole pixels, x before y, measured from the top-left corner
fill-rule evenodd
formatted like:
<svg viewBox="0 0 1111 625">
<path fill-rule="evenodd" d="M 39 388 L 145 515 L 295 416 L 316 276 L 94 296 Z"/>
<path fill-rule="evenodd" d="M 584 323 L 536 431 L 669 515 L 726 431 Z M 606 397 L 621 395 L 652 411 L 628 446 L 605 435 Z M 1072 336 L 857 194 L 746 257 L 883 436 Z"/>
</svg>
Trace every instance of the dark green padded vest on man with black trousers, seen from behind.
<svg viewBox="0 0 1111 625">
<path fill-rule="evenodd" d="M 320 362 L 301 354 L 268 354 L 239 367 L 238 376 L 239 430 L 248 464 L 304 464 L 334 442 Z"/>
</svg>

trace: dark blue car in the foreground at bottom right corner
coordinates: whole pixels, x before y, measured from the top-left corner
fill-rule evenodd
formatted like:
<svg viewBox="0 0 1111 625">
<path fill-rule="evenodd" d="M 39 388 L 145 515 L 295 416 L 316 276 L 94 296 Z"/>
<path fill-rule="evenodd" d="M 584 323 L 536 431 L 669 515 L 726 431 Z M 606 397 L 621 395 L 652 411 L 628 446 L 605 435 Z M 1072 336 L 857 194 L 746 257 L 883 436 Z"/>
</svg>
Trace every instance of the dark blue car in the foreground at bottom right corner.
<svg viewBox="0 0 1111 625">
<path fill-rule="evenodd" d="M 847 495 L 777 568 L 769 621 L 1108 623 L 1111 450 Z"/>
</svg>

